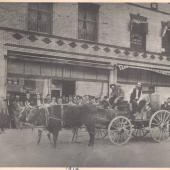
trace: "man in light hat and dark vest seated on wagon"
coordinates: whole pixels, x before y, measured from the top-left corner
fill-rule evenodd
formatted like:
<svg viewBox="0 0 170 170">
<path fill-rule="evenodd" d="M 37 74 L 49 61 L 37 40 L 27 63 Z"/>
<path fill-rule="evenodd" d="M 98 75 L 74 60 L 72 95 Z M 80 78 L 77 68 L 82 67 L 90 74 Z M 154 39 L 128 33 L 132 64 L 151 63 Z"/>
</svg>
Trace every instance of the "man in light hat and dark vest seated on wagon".
<svg viewBox="0 0 170 170">
<path fill-rule="evenodd" d="M 132 114 L 134 115 L 138 111 L 138 103 L 142 96 L 142 84 L 137 83 L 130 95 L 130 103 L 132 104 Z"/>
</svg>

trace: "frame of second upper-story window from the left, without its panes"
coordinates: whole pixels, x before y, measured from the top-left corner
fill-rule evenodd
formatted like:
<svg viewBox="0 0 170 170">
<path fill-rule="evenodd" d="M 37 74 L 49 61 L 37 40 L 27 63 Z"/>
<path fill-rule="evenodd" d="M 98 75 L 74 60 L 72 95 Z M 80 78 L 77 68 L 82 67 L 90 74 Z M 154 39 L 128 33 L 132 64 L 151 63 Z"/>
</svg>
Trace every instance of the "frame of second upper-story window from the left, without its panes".
<svg viewBox="0 0 170 170">
<path fill-rule="evenodd" d="M 96 10 L 96 21 L 93 21 L 93 20 L 88 20 L 88 19 L 86 19 L 86 20 L 84 20 L 84 19 L 80 19 L 80 6 L 86 6 L 85 8 L 88 8 L 88 6 L 93 6 L 92 8 L 95 8 L 95 10 Z M 79 40 L 83 40 L 83 41 L 89 41 L 89 42 L 98 42 L 98 30 L 99 30 L 99 7 L 100 7 L 100 5 L 98 5 L 98 4 L 94 4 L 94 3 L 78 3 L 78 35 L 77 35 L 77 37 L 78 37 L 78 39 Z M 96 32 L 95 33 L 95 39 L 94 40 L 89 40 L 89 39 L 84 39 L 84 38 L 81 38 L 80 37 L 80 29 L 79 29 L 79 24 L 80 24 L 80 22 L 83 22 L 83 21 L 86 21 L 86 23 L 93 23 L 93 25 L 95 26 L 95 31 L 94 32 Z"/>
</svg>

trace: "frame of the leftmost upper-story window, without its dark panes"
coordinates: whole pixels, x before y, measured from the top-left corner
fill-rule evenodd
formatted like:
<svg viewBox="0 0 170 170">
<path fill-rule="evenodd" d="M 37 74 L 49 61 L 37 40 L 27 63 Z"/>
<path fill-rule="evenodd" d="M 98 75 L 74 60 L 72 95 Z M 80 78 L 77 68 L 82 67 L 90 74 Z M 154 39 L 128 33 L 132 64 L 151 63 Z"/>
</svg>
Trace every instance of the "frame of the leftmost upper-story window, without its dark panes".
<svg viewBox="0 0 170 170">
<path fill-rule="evenodd" d="M 44 9 L 40 9 L 39 7 L 39 5 L 42 5 L 42 4 L 49 4 L 51 7 L 50 7 L 50 10 L 49 11 L 47 11 L 47 10 L 44 10 Z M 31 8 L 30 7 L 30 5 L 37 5 L 37 7 L 36 8 Z M 31 27 L 30 27 L 30 23 L 29 22 L 31 22 L 31 19 L 30 19 L 30 11 L 35 11 L 36 12 L 36 30 L 33 30 L 33 29 L 31 29 Z M 48 18 L 50 18 L 50 21 L 47 23 L 47 25 L 49 25 L 50 24 L 50 29 L 49 29 L 49 31 L 41 31 L 40 30 L 40 26 L 39 26 L 39 22 L 38 22 L 38 15 L 40 14 L 40 13 L 43 13 L 43 14 L 47 14 L 47 15 L 49 15 L 48 16 Z M 39 33 L 44 33 L 44 34 L 52 34 L 53 33 L 53 4 L 52 3 L 28 3 L 28 6 L 27 6 L 27 29 L 28 29 L 28 31 L 31 31 L 31 32 L 39 32 Z M 41 25 L 41 24 L 40 24 Z"/>
</svg>

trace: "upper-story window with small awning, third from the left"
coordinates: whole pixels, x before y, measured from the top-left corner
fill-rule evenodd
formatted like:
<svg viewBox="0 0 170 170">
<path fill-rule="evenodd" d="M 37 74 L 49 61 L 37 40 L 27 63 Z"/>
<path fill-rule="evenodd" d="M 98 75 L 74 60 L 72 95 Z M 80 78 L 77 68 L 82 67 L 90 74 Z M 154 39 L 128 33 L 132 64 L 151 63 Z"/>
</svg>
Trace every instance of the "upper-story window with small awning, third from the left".
<svg viewBox="0 0 170 170">
<path fill-rule="evenodd" d="M 147 18 L 130 14 L 130 47 L 137 51 L 146 50 Z"/>
</svg>

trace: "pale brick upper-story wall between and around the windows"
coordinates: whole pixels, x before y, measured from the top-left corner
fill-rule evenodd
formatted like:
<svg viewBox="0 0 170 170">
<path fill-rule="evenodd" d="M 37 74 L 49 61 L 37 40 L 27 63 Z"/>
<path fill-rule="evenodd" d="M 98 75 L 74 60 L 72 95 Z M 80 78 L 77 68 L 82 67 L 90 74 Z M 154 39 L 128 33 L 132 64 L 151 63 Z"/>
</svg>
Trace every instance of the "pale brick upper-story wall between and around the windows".
<svg viewBox="0 0 170 170">
<path fill-rule="evenodd" d="M 169 5 L 169 4 L 167 4 Z M 165 11 L 168 6 L 166 5 Z M 146 6 L 146 5 L 145 5 Z M 160 8 L 165 8 L 161 4 Z M 55 3 L 53 6 L 53 34 L 63 37 L 78 37 L 78 5 L 77 3 Z M 169 15 L 139 8 L 129 4 L 100 4 L 98 41 L 130 47 L 129 14 L 147 17 L 149 33 L 146 48 L 148 51 L 161 51 L 161 21 L 168 21 Z M 27 3 L 1 3 L 0 26 L 27 30 Z"/>
</svg>

